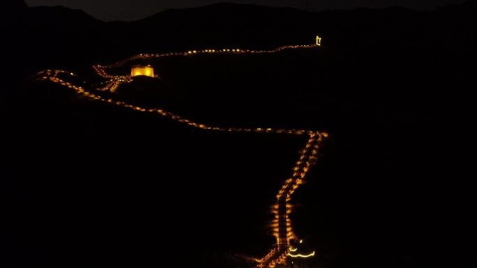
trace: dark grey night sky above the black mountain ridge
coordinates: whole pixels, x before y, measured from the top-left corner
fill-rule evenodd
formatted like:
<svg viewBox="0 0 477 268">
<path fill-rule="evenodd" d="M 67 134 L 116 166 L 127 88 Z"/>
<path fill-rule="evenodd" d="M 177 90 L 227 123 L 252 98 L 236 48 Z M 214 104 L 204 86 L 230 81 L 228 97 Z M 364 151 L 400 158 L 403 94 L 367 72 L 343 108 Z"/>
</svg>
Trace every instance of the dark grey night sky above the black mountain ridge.
<svg viewBox="0 0 477 268">
<path fill-rule="evenodd" d="M 66 6 L 82 9 L 93 17 L 110 20 L 131 21 L 148 17 L 169 8 L 204 6 L 225 0 L 26 0 L 29 6 Z M 384 8 L 403 6 L 414 9 L 432 9 L 464 0 L 236 0 L 228 2 L 256 3 L 265 6 L 290 6 L 307 10 L 330 10 L 341 8 Z"/>
</svg>

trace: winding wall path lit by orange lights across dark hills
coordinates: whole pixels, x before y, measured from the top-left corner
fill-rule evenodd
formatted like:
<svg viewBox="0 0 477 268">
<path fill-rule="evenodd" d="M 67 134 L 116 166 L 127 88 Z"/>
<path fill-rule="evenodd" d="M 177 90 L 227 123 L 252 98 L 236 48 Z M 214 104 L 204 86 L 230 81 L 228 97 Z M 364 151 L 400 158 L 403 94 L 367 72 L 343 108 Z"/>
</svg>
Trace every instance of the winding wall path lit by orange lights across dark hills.
<svg viewBox="0 0 477 268">
<path fill-rule="evenodd" d="M 143 107 L 135 106 L 132 104 L 128 104 L 127 102 L 123 101 L 115 101 L 111 98 L 105 98 L 100 95 L 101 91 L 109 91 L 114 93 L 116 89 L 121 86 L 121 84 L 129 83 L 132 81 L 131 75 L 113 75 L 107 72 L 107 69 L 116 68 L 121 65 L 124 65 L 130 61 L 133 61 L 138 58 L 162 58 L 167 56 L 190 56 L 194 54 L 215 54 L 215 53 L 224 53 L 224 54 L 262 54 L 262 53 L 276 53 L 280 52 L 285 49 L 311 49 L 316 48 L 321 45 L 321 38 L 317 37 L 317 45 L 293 45 L 293 46 L 285 46 L 285 47 L 278 47 L 277 49 L 273 50 L 242 50 L 242 49 L 222 49 L 222 50 L 215 50 L 215 49 L 206 49 L 201 51 L 188 51 L 183 53 L 166 53 L 166 54 L 139 54 L 136 56 L 132 56 L 130 58 L 126 58 L 123 61 L 119 61 L 118 63 L 114 63 L 111 65 L 93 65 L 93 69 L 96 71 L 99 77 L 103 77 L 107 79 L 103 83 L 96 85 L 95 89 L 86 90 L 82 86 L 77 86 L 69 81 L 66 81 L 68 77 L 76 77 L 76 74 L 72 72 L 66 72 L 64 70 L 44 70 L 42 72 L 38 72 L 38 75 L 44 79 L 52 81 L 56 84 L 60 84 L 61 86 L 65 86 L 67 88 L 75 90 L 77 95 L 81 95 L 84 97 L 89 98 L 90 100 L 96 100 L 100 102 L 107 102 L 109 104 L 115 104 L 120 107 L 125 107 L 127 109 L 133 109 L 136 111 L 142 111 L 144 113 L 157 113 L 160 116 L 164 116 L 165 118 L 170 118 L 172 120 L 176 120 L 179 123 L 184 123 L 189 125 L 190 127 L 197 127 L 199 129 L 205 130 L 214 130 L 214 131 L 221 131 L 221 132 L 258 132 L 258 133 L 275 133 L 275 134 L 294 134 L 294 135 L 306 135 L 308 136 L 308 142 L 301 150 L 300 159 L 296 162 L 294 166 L 294 170 L 292 176 L 285 181 L 282 185 L 280 191 L 277 194 L 277 201 L 275 205 L 272 207 L 272 212 L 274 214 L 273 222 L 271 223 L 271 228 L 273 230 L 273 235 L 275 235 L 277 239 L 277 244 L 273 246 L 271 251 L 268 252 L 267 255 L 264 256 L 261 260 L 259 260 L 258 267 L 259 268 L 267 268 L 267 267 L 275 267 L 275 265 L 282 263 L 285 261 L 287 256 L 290 257 L 310 257 L 315 255 L 313 252 L 310 255 L 294 255 L 291 254 L 291 251 L 295 251 L 291 249 L 289 246 L 289 242 L 292 239 L 296 239 L 296 235 L 292 230 L 292 222 L 289 218 L 289 214 L 292 212 L 292 205 L 289 204 L 289 201 L 292 198 L 292 194 L 298 188 L 300 184 L 303 183 L 305 179 L 305 175 L 308 173 L 310 166 L 315 164 L 317 160 L 318 150 L 321 142 L 325 139 L 328 134 L 326 132 L 317 132 L 312 130 L 305 130 L 305 129 L 274 129 L 274 128 L 236 128 L 236 127 L 213 127 L 209 125 L 204 125 L 200 123 L 192 122 L 186 118 L 176 115 L 175 113 L 171 113 L 169 111 L 164 111 L 162 109 L 152 108 L 146 109 Z M 318 40 L 320 42 L 318 42 Z M 93 93 L 94 90 L 98 92 Z"/>
</svg>

